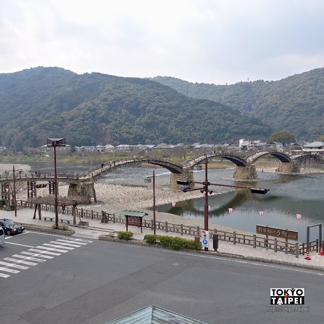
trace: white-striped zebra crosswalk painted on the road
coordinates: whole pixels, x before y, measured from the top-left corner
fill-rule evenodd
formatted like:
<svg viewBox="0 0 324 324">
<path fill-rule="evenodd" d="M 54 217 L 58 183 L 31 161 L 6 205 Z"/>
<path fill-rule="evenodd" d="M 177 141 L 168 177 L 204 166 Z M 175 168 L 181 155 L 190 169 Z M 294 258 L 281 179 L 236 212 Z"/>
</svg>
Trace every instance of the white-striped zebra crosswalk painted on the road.
<svg viewBox="0 0 324 324">
<path fill-rule="evenodd" d="M 30 266 L 36 266 L 91 242 L 93 241 L 81 238 L 61 238 L 14 254 L 10 258 L 3 258 L 0 260 L 0 278 L 8 278 L 29 269 Z"/>
</svg>

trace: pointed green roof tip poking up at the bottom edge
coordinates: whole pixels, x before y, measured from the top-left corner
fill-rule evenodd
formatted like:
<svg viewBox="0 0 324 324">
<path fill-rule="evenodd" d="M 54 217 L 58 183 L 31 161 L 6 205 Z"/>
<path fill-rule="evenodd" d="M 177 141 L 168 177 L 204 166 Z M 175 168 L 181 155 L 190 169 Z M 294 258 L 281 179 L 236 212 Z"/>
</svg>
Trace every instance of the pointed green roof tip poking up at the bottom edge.
<svg viewBox="0 0 324 324">
<path fill-rule="evenodd" d="M 106 324 L 206 324 L 171 310 L 149 305 Z"/>
</svg>

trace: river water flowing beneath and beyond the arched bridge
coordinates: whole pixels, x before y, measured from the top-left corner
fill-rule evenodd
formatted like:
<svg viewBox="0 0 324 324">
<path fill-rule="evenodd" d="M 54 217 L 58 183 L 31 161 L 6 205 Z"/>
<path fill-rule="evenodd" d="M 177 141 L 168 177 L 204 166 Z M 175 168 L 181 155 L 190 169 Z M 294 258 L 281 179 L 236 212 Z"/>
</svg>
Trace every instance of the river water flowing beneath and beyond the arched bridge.
<svg viewBox="0 0 324 324">
<path fill-rule="evenodd" d="M 33 172 L 54 172 L 53 163 L 37 161 L 28 165 Z M 19 166 L 16 166 L 18 169 Z M 82 173 L 95 166 L 90 163 L 57 163 L 57 173 Z M 145 186 L 144 179 L 151 176 L 152 171 L 153 168 L 149 167 L 130 166 L 104 176 L 99 182 Z M 156 186 L 169 185 L 168 170 L 156 168 L 155 174 Z M 251 194 L 250 190 L 211 186 L 210 189 L 219 194 L 209 196 L 210 222 L 252 232 L 255 232 L 257 224 L 289 228 L 298 231 L 299 241 L 306 241 L 306 226 L 323 223 L 324 173 L 288 176 L 258 172 L 259 180 L 253 183 L 235 182 L 232 176 L 233 169 L 208 171 L 211 183 L 268 188 L 270 191 L 262 195 Z M 204 181 L 205 171 L 194 171 L 194 179 Z M 204 194 L 201 194 L 201 198 L 180 201 L 174 208 L 168 204 L 157 206 L 156 210 L 203 220 L 204 205 Z M 232 214 L 228 213 L 228 208 L 233 209 Z M 259 211 L 264 212 L 262 217 Z M 297 220 L 296 214 L 301 215 L 300 220 Z M 317 234 L 318 229 L 312 228 L 311 239 L 317 238 Z"/>
</svg>

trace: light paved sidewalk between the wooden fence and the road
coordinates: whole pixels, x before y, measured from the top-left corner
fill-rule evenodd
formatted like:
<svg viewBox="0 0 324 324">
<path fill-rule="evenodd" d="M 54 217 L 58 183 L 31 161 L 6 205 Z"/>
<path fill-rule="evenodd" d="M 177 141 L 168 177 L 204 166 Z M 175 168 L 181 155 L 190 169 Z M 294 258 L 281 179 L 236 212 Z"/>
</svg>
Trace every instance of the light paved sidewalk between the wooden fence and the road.
<svg viewBox="0 0 324 324">
<path fill-rule="evenodd" d="M 34 209 L 23 208 L 17 210 L 17 217 L 15 217 L 15 212 L 0 212 L 0 218 L 12 219 L 16 223 L 25 223 L 31 225 L 42 225 L 51 227 L 55 224 L 55 214 L 53 212 L 42 211 L 42 220 L 38 219 L 38 212 L 36 213 L 36 219 L 32 219 L 34 215 Z M 48 217 L 47 220 L 44 220 L 44 217 Z M 54 217 L 53 221 L 49 220 L 49 217 Z M 67 225 L 66 222 L 61 223 L 60 219 L 71 220 L 70 225 Z M 76 218 L 77 223 L 79 218 Z M 100 235 L 109 234 L 113 231 L 126 231 L 126 225 L 120 223 L 101 223 L 100 220 L 81 218 L 82 221 L 89 222 L 89 227 L 80 227 L 73 226 L 72 216 L 71 215 L 62 215 L 59 213 L 59 225 L 66 225 L 71 229 L 75 230 L 73 236 L 82 236 L 87 238 L 98 239 Z M 149 228 L 143 227 L 143 233 L 141 229 L 136 226 L 129 226 L 129 230 L 134 233 L 134 239 L 143 240 L 145 234 L 153 234 L 153 231 Z M 159 231 L 156 230 L 156 234 L 159 235 L 170 235 L 170 236 L 180 236 L 179 233 Z M 183 238 L 194 239 L 193 236 L 182 235 Z M 210 251 L 208 252 L 213 254 L 214 250 L 212 247 L 212 242 L 210 243 Z M 242 244 L 233 244 L 232 242 L 225 242 L 219 240 L 218 253 L 215 255 L 223 255 L 224 257 L 236 257 L 252 261 L 261 261 L 275 264 L 282 264 L 288 266 L 298 266 L 310 269 L 317 269 L 324 271 L 324 256 L 318 255 L 316 252 L 310 253 L 311 260 L 305 260 L 305 256 L 300 255 L 299 258 L 296 258 L 294 255 L 285 254 L 284 252 L 274 253 L 273 250 L 268 250 L 264 248 L 253 248 L 252 246 L 242 245 Z"/>
</svg>

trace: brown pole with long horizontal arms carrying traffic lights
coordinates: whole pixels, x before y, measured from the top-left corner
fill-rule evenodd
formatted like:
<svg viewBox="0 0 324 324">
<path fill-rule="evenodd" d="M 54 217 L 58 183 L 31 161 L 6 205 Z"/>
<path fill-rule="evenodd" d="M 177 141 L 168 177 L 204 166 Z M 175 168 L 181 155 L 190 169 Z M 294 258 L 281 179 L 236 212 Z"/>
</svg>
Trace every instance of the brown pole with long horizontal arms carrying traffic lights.
<svg viewBox="0 0 324 324">
<path fill-rule="evenodd" d="M 205 220 L 205 231 L 208 234 L 208 194 L 212 194 L 213 191 L 208 190 L 208 186 L 213 185 L 213 186 L 222 186 L 222 187 L 232 187 L 232 188 L 242 188 L 242 189 L 250 189 L 251 192 L 253 193 L 261 193 L 261 194 L 266 194 L 269 189 L 263 189 L 263 188 L 253 188 L 253 187 L 242 187 L 242 186 L 231 186 L 231 185 L 226 185 L 226 184 L 218 184 L 218 183 L 210 183 L 208 181 L 208 157 L 207 154 L 205 155 L 205 162 L 202 164 L 205 164 L 205 181 L 204 182 L 196 182 L 196 181 L 177 181 L 177 184 L 181 186 L 189 186 L 190 183 L 199 183 L 203 185 L 203 188 L 194 188 L 194 189 L 189 189 L 184 187 L 182 189 L 183 192 L 187 191 L 194 191 L 194 190 L 200 190 L 201 193 L 205 192 L 205 209 L 204 209 L 204 220 Z M 201 170 L 201 167 L 196 170 Z M 205 251 L 208 251 L 208 247 L 205 247 Z"/>
</svg>

